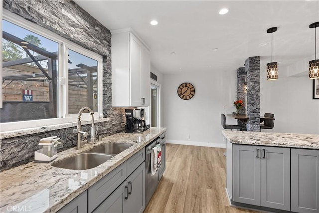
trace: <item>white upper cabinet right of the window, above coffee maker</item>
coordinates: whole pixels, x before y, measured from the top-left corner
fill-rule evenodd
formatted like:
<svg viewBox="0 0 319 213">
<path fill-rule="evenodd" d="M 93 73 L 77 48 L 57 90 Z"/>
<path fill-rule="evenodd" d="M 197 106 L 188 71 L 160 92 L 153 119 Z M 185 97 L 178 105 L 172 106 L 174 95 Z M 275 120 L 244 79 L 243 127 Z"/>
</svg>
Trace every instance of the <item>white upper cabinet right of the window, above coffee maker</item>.
<svg viewBox="0 0 319 213">
<path fill-rule="evenodd" d="M 132 29 L 112 31 L 112 106 L 150 105 L 149 48 Z"/>
</svg>

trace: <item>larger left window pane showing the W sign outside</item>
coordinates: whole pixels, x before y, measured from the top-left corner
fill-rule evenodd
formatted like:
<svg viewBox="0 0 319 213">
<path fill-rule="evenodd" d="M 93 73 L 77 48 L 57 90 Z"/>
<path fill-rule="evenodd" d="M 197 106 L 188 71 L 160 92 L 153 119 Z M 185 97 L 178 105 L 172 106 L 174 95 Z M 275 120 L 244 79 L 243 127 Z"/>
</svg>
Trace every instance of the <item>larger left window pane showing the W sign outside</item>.
<svg viewBox="0 0 319 213">
<path fill-rule="evenodd" d="M 2 24 L 1 122 L 56 118 L 58 43 Z"/>
</svg>

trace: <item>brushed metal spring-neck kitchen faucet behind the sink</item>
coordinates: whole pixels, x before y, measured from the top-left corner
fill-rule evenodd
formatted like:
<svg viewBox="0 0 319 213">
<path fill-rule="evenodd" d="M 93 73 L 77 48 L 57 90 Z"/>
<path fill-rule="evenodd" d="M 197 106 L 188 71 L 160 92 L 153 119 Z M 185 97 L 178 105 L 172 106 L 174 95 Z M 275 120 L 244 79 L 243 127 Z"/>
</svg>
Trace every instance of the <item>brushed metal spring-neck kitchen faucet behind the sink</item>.
<svg viewBox="0 0 319 213">
<path fill-rule="evenodd" d="M 85 137 L 84 143 L 86 142 L 86 137 L 88 136 L 87 132 L 81 131 L 81 115 L 83 113 L 83 111 L 89 111 L 90 115 L 92 116 L 92 127 L 91 127 L 91 140 L 90 142 L 95 142 L 95 126 L 94 126 L 94 117 L 93 117 L 93 110 L 90 109 L 89 107 L 82 107 L 79 111 L 79 115 L 78 115 L 78 123 L 77 123 L 77 129 L 73 130 L 73 133 L 77 133 L 78 134 L 78 140 L 76 143 L 76 149 L 81 149 L 81 134 Z"/>
</svg>

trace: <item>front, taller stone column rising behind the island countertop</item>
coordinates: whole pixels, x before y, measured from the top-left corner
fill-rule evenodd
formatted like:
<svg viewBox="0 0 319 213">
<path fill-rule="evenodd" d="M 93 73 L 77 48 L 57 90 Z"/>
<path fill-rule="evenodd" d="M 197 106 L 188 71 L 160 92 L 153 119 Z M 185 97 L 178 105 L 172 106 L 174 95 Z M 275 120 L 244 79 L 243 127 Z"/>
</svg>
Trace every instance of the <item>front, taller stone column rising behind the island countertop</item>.
<svg viewBox="0 0 319 213">
<path fill-rule="evenodd" d="M 247 75 L 247 131 L 260 131 L 260 58 L 249 57 L 245 62 Z"/>
</svg>

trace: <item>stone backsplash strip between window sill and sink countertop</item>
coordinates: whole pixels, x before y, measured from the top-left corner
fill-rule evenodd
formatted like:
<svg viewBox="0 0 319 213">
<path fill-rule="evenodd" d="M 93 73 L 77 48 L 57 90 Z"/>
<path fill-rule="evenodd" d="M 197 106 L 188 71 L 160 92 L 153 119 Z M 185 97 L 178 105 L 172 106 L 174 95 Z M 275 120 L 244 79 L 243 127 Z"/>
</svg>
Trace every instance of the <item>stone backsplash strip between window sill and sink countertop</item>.
<svg viewBox="0 0 319 213">
<path fill-rule="evenodd" d="M 126 120 L 123 114 L 124 108 L 113 108 L 110 112 L 109 122 L 95 124 L 99 126 L 97 134 L 104 137 L 124 131 Z M 39 149 L 38 144 L 41 138 L 50 136 L 60 138 L 61 144 L 58 145 L 58 152 L 75 147 L 77 134 L 73 133 L 73 129 L 76 129 L 76 127 L 2 139 L 0 150 L 1 171 L 34 161 L 34 151 Z M 81 129 L 89 133 L 87 139 L 90 141 L 91 124 L 83 125 Z"/>
</svg>

